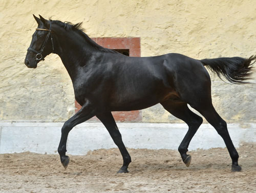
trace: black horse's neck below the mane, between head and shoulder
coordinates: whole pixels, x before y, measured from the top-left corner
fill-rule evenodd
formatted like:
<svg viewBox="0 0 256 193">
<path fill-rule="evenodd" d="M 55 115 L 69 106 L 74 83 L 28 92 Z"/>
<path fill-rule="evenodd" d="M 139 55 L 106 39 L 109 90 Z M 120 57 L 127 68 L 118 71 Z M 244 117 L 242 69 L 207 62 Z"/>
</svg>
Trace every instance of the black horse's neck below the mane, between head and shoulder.
<svg viewBox="0 0 256 193">
<path fill-rule="evenodd" d="M 75 81 L 79 70 L 88 65 L 88 61 L 95 53 L 95 48 L 86 38 L 74 31 L 61 31 L 57 35 L 58 48 L 56 54 L 62 60 L 72 82 Z"/>
</svg>

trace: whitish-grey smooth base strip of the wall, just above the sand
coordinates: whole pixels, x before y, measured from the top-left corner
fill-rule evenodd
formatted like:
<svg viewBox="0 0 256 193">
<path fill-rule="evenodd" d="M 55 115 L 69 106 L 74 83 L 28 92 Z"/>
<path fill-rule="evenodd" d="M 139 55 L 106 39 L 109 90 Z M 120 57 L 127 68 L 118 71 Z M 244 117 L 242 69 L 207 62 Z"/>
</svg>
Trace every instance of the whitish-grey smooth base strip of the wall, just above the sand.
<svg viewBox="0 0 256 193">
<path fill-rule="evenodd" d="M 34 152 L 57 154 L 62 122 L 0 122 L 0 154 Z M 183 123 L 117 123 L 126 147 L 148 149 L 178 149 L 187 132 Z M 256 124 L 228 124 L 228 131 L 239 147 L 244 142 L 256 142 Z M 116 147 L 102 123 L 77 125 L 69 134 L 67 154 L 86 155 L 100 148 Z M 210 124 L 202 124 L 192 139 L 189 150 L 225 147 L 222 138 Z"/>
</svg>

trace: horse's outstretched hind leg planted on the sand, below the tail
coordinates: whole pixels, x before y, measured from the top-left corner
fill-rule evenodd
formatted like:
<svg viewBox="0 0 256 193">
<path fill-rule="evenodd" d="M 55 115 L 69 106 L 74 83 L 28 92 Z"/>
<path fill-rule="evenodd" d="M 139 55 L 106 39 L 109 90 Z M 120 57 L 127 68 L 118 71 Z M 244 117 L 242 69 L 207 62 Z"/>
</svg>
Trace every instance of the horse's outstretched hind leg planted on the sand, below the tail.
<svg viewBox="0 0 256 193">
<path fill-rule="evenodd" d="M 219 116 L 219 114 L 214 109 L 214 106 L 212 105 L 212 103 L 208 101 L 207 103 L 201 104 L 199 106 L 193 106 L 193 105 L 191 106 L 194 109 L 196 109 L 199 113 L 201 113 L 201 115 L 203 115 L 205 119 L 212 126 L 214 126 L 218 134 L 224 140 L 226 147 L 228 149 L 229 155 L 232 159 L 231 171 L 240 171 L 241 167 L 238 165 L 239 155 L 229 136 L 229 133 L 227 130 L 227 123 Z"/>
</svg>

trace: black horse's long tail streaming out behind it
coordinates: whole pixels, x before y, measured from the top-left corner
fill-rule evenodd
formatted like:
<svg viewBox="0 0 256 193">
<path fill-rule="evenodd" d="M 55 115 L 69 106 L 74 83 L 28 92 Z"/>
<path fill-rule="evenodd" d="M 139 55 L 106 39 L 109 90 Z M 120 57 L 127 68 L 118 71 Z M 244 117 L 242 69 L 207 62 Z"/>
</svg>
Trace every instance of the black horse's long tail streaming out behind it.
<svg viewBox="0 0 256 193">
<path fill-rule="evenodd" d="M 212 73 L 217 74 L 220 78 L 223 75 L 229 82 L 234 84 L 249 83 L 244 82 L 250 79 L 252 64 L 251 61 L 256 59 L 251 56 L 248 59 L 241 57 L 232 58 L 215 58 L 200 60 Z M 222 79 L 222 78 L 221 78 Z M 223 79 L 222 79 L 223 80 Z"/>
</svg>

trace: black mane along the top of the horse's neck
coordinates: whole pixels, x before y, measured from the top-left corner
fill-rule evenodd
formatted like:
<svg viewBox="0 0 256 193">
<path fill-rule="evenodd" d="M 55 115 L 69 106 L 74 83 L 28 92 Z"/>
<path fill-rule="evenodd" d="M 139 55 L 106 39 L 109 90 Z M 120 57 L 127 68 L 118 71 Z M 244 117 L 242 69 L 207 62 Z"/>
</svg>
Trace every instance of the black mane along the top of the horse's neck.
<svg viewBox="0 0 256 193">
<path fill-rule="evenodd" d="M 84 33 L 84 29 L 82 28 L 82 22 L 77 24 L 72 24 L 71 22 L 61 22 L 60 20 L 51 20 L 53 24 L 57 24 L 58 26 L 64 28 L 66 31 L 75 31 L 80 34 L 91 46 L 93 46 L 96 50 L 101 52 L 109 52 L 109 53 L 119 53 L 115 50 L 103 48 L 102 46 L 98 45 L 95 41 L 93 41 L 86 33 Z"/>
</svg>

